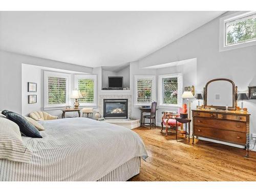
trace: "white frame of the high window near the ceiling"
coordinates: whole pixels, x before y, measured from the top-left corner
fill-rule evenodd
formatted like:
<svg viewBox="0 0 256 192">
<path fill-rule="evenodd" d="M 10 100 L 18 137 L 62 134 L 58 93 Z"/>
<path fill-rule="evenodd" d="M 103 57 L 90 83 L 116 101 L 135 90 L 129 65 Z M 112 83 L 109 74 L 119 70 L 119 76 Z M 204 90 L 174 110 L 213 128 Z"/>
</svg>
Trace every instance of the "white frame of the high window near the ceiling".
<svg viewBox="0 0 256 192">
<path fill-rule="evenodd" d="M 254 14 L 256 14 L 256 11 L 239 11 L 237 13 L 220 18 L 219 51 L 226 51 L 256 45 L 256 39 L 238 42 L 237 44 L 226 45 L 226 23 L 234 22 L 235 20 L 242 19 L 244 17 L 248 17 Z"/>
</svg>

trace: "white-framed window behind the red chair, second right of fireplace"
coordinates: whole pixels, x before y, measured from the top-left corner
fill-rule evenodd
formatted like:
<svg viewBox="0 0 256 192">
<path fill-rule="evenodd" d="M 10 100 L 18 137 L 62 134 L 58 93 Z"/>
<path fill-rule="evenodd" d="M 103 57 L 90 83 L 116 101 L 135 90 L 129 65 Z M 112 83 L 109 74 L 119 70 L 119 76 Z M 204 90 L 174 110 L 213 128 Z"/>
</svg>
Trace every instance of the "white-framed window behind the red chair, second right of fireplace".
<svg viewBox="0 0 256 192">
<path fill-rule="evenodd" d="M 158 76 L 158 103 L 160 106 L 182 105 L 182 74 Z"/>
</svg>

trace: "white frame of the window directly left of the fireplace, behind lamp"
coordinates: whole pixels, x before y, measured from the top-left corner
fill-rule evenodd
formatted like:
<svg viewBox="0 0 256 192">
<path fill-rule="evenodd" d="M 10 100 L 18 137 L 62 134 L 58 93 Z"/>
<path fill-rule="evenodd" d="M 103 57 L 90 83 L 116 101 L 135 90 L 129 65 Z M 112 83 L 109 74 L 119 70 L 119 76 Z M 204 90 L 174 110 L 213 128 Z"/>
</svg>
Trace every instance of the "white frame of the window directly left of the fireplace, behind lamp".
<svg viewBox="0 0 256 192">
<path fill-rule="evenodd" d="M 93 79 L 94 80 L 94 102 L 79 102 L 79 106 L 91 106 L 92 108 L 97 108 L 97 75 L 87 75 L 87 74 L 74 74 L 74 86 L 78 89 L 79 79 Z"/>
</svg>

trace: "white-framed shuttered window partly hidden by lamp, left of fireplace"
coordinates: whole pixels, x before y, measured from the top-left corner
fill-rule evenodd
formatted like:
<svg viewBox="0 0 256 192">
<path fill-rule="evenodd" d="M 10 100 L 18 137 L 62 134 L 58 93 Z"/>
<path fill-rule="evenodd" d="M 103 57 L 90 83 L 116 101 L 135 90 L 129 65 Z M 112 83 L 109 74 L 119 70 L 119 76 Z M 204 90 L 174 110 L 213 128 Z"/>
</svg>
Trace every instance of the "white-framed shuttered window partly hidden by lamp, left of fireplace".
<svg viewBox="0 0 256 192">
<path fill-rule="evenodd" d="M 81 106 L 97 106 L 97 75 L 75 75 L 75 89 L 83 96 Z"/>
</svg>

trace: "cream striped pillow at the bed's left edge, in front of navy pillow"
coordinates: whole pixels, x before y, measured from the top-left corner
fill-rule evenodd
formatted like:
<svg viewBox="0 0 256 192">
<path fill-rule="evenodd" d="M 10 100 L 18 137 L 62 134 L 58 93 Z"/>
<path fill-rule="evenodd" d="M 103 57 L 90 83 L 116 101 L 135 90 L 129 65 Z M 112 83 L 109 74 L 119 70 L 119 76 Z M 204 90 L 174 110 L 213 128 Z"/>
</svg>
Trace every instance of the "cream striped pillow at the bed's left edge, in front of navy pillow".
<svg viewBox="0 0 256 192">
<path fill-rule="evenodd" d="M 32 152 L 24 145 L 19 127 L 7 118 L 0 118 L 0 159 L 29 163 Z"/>
</svg>

